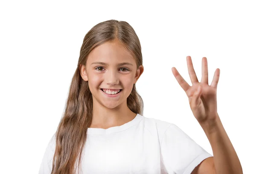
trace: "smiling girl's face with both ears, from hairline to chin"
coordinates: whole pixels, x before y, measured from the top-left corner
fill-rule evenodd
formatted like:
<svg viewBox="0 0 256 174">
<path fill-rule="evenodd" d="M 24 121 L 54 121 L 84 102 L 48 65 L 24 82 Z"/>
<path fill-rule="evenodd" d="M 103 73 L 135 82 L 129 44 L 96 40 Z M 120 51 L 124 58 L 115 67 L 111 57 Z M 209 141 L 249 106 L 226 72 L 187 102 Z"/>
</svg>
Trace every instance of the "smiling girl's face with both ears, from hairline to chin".
<svg viewBox="0 0 256 174">
<path fill-rule="evenodd" d="M 143 66 L 137 69 L 134 57 L 117 41 L 94 48 L 86 67 L 80 68 L 81 77 L 88 81 L 93 95 L 93 106 L 101 104 L 107 108 L 116 108 L 122 103 L 127 107 L 127 97 L 143 73 Z M 119 92 L 114 94 L 115 91 Z"/>
</svg>

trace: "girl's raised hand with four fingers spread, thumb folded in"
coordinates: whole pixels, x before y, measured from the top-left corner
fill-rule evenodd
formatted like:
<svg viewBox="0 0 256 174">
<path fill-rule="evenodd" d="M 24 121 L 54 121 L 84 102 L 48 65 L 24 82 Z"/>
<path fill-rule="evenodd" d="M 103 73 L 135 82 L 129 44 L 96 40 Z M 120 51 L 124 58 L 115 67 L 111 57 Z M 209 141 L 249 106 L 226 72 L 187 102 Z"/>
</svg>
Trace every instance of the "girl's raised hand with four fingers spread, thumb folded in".
<svg viewBox="0 0 256 174">
<path fill-rule="evenodd" d="M 217 113 L 217 99 L 216 91 L 219 80 L 219 69 L 216 69 L 211 85 L 208 85 L 208 67 L 207 59 L 203 57 L 202 59 L 202 79 L 198 82 L 198 78 L 195 74 L 193 68 L 191 57 L 187 57 L 187 66 L 189 70 L 189 77 L 192 82 L 192 86 L 181 77 L 179 72 L 175 67 L 172 68 L 172 73 L 174 74 L 176 80 L 186 92 L 189 99 L 190 108 L 198 120 L 199 123 L 203 123 L 207 120 L 214 120 Z M 196 93 L 198 87 L 201 87 L 199 94 Z"/>
</svg>

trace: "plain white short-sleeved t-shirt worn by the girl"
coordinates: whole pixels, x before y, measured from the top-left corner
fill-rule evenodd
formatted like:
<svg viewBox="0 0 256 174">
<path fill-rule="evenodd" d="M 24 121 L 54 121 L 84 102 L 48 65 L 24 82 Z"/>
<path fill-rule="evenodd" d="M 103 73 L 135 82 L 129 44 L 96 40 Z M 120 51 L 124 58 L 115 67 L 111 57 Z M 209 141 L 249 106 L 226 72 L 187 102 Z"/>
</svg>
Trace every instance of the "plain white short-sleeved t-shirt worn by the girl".
<svg viewBox="0 0 256 174">
<path fill-rule="evenodd" d="M 39 174 L 50 174 L 55 134 L 44 153 Z M 122 126 L 88 128 L 82 174 L 191 174 L 212 157 L 173 123 L 140 114 Z"/>
</svg>

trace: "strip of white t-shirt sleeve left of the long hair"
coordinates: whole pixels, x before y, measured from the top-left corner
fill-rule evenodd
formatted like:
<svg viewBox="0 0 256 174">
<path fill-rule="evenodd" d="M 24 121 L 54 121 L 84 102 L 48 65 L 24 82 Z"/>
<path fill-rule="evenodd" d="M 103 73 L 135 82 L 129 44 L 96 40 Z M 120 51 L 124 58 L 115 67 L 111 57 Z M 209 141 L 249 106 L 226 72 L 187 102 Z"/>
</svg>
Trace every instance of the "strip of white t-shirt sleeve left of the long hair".
<svg viewBox="0 0 256 174">
<path fill-rule="evenodd" d="M 52 161 L 55 153 L 55 134 L 50 139 L 47 148 L 44 152 L 43 160 L 40 165 L 39 174 L 52 173 Z"/>
</svg>

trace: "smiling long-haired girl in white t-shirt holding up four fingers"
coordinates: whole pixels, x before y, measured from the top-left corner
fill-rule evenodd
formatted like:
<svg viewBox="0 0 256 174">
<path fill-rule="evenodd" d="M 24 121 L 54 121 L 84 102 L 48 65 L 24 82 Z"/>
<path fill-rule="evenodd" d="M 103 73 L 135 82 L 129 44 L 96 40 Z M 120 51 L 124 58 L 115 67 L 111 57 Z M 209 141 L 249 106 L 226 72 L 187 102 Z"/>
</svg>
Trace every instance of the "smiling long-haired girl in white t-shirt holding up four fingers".
<svg viewBox="0 0 256 174">
<path fill-rule="evenodd" d="M 84 37 L 64 116 L 39 174 L 242 174 L 217 113 L 220 70 L 209 86 L 206 57 L 200 83 L 191 57 L 187 63 L 192 86 L 172 72 L 214 157 L 175 124 L 143 116 L 135 87 L 143 73 L 140 40 L 127 22 L 108 20 Z"/>
</svg>

